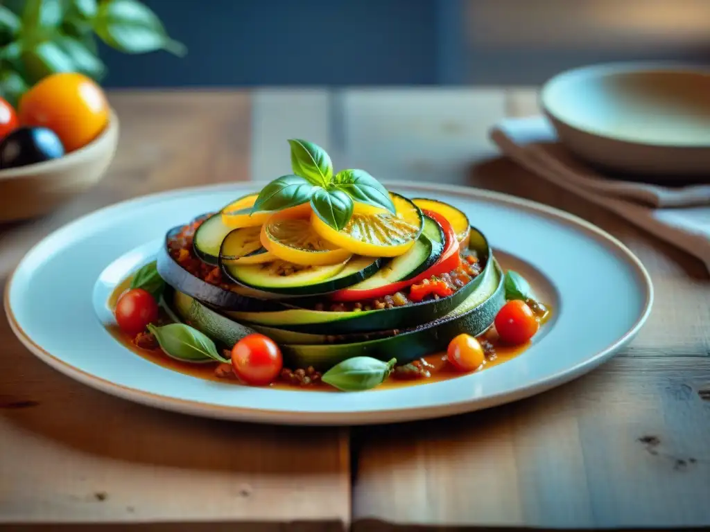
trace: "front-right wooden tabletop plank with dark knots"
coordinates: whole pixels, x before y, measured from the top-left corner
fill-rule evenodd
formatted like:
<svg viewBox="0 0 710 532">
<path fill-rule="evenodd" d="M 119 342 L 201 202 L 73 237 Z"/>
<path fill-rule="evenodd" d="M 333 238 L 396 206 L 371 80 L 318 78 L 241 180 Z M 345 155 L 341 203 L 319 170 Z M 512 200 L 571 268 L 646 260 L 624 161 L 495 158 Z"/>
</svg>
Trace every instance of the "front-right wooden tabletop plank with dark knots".
<svg viewBox="0 0 710 532">
<path fill-rule="evenodd" d="M 354 519 L 706 526 L 709 384 L 710 360 L 616 358 L 525 401 L 360 433 Z"/>
</svg>

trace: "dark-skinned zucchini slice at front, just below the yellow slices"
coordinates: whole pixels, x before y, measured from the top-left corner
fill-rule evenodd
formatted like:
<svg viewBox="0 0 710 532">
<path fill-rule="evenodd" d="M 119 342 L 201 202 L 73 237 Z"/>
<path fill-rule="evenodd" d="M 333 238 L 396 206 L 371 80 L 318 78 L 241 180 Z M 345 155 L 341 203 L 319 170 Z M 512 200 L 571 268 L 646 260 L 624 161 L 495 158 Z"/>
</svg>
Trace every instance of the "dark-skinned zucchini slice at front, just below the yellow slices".
<svg viewBox="0 0 710 532">
<path fill-rule="evenodd" d="M 334 265 L 299 266 L 283 260 L 239 265 L 222 262 L 222 271 L 234 282 L 265 292 L 308 297 L 327 294 L 374 275 L 381 266 L 377 257 L 351 257 Z"/>
</svg>

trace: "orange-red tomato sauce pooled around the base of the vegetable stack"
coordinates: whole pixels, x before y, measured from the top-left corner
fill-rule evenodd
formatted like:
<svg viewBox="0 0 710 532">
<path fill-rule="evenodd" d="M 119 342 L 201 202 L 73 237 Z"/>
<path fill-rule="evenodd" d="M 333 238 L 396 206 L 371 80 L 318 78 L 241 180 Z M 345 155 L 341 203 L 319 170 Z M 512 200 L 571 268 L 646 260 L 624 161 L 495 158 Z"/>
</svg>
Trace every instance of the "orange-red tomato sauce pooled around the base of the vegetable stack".
<svg viewBox="0 0 710 532">
<path fill-rule="evenodd" d="M 121 282 L 121 284 L 119 284 L 116 289 L 114 289 L 114 292 L 112 292 L 111 297 L 109 297 L 109 308 L 111 310 L 115 308 L 116 301 L 118 301 L 121 294 L 129 288 L 130 284 L 131 279 L 129 278 L 124 280 L 124 282 Z M 544 323 L 550 318 L 551 314 L 552 313 L 551 311 L 549 311 L 548 308 L 547 314 L 540 320 L 541 330 L 542 325 L 544 325 Z M 163 315 L 163 317 L 165 317 L 165 315 Z M 218 377 L 216 375 L 216 372 L 219 367 L 219 362 L 194 364 L 190 362 L 182 362 L 180 360 L 175 360 L 174 358 L 170 358 L 168 355 L 166 355 L 160 348 L 151 350 L 138 348 L 138 346 L 133 343 L 133 338 L 130 338 L 128 335 L 126 335 L 126 333 L 123 333 L 116 325 L 107 326 L 107 329 L 109 333 L 111 333 L 111 336 L 114 336 L 117 341 L 125 345 L 126 348 L 128 348 L 129 350 L 133 351 L 133 353 L 136 353 L 136 355 L 141 356 L 142 358 L 145 358 L 146 360 L 149 360 L 155 364 L 163 366 L 168 370 L 173 370 L 176 372 L 183 373 L 185 375 L 197 377 L 198 379 L 222 382 L 224 384 L 236 384 L 238 386 L 242 385 L 241 382 L 239 382 L 239 380 L 237 380 L 236 378 Z M 479 367 L 476 372 L 485 371 L 488 368 L 503 364 L 503 362 L 508 362 L 508 360 L 517 357 L 530 347 L 530 342 L 525 343 L 523 345 L 515 346 L 504 345 L 503 343 L 501 343 L 500 340 L 498 340 L 495 331 L 488 331 L 483 335 L 479 336 L 479 338 L 485 338 L 486 340 L 488 340 L 489 343 L 491 343 L 493 349 L 495 350 L 495 355 L 491 356 L 487 353 L 484 364 L 481 365 L 481 367 Z M 393 373 L 390 377 L 388 377 L 388 379 L 386 379 L 385 382 L 380 384 L 376 389 L 394 389 L 400 387 L 415 386 L 418 384 L 441 382 L 444 380 L 454 379 L 456 377 L 468 375 L 467 373 L 461 373 L 455 370 L 454 367 L 447 361 L 446 353 L 433 353 L 432 355 L 428 355 L 427 357 L 422 358 L 421 363 L 428 372 L 427 377 L 402 378 L 399 375 L 395 375 L 395 373 Z M 289 382 L 278 380 L 270 384 L 269 387 L 273 389 L 284 390 L 320 392 L 336 391 L 334 388 L 328 386 L 327 384 L 322 384 L 320 382 L 307 386 L 300 386 L 298 384 L 290 384 Z"/>
</svg>

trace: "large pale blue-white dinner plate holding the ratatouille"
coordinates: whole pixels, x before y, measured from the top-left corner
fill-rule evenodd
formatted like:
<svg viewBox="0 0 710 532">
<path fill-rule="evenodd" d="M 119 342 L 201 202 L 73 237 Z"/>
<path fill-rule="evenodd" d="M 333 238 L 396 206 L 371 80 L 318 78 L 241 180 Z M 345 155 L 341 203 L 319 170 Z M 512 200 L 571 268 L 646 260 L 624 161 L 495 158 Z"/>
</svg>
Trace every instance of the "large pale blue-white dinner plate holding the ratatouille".
<svg viewBox="0 0 710 532">
<path fill-rule="evenodd" d="M 643 265 L 616 239 L 579 218 L 477 189 L 389 183 L 407 196 L 459 206 L 488 236 L 503 266 L 530 277 L 541 299 L 555 309 L 530 349 L 491 369 L 444 382 L 332 393 L 210 382 L 155 365 L 117 343 L 97 318 L 109 289 L 150 260 L 168 228 L 261 185 L 146 196 L 49 235 L 23 258 L 6 288 L 13 331 L 60 372 L 131 401 L 224 419 L 350 425 L 447 416 L 537 394 L 610 358 L 638 333 L 650 312 L 652 286 Z"/>
</svg>

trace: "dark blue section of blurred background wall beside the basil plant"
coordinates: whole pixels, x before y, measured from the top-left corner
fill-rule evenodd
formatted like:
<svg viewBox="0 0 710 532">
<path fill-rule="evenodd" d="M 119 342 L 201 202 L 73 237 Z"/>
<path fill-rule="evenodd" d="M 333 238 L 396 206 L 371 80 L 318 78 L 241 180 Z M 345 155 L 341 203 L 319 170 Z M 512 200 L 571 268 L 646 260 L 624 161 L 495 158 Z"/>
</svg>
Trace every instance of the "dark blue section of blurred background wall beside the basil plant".
<svg viewBox="0 0 710 532">
<path fill-rule="evenodd" d="M 433 84 L 442 3 L 458 1 L 147 0 L 187 55 L 104 47 L 104 84 Z"/>
</svg>

